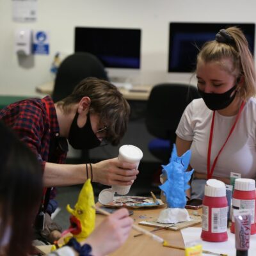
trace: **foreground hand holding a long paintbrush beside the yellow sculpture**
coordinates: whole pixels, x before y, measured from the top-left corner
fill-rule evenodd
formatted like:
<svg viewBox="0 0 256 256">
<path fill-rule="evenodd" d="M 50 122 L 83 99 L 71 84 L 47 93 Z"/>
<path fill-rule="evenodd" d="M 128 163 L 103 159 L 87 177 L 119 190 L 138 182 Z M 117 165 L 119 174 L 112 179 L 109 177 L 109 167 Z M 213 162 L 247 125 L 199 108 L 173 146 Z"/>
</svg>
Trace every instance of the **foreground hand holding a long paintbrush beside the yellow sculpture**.
<svg viewBox="0 0 256 256">
<path fill-rule="evenodd" d="M 107 255 L 124 244 L 131 232 L 132 223 L 127 209 L 119 209 L 106 217 L 84 243 L 92 246 L 93 256 Z"/>
</svg>

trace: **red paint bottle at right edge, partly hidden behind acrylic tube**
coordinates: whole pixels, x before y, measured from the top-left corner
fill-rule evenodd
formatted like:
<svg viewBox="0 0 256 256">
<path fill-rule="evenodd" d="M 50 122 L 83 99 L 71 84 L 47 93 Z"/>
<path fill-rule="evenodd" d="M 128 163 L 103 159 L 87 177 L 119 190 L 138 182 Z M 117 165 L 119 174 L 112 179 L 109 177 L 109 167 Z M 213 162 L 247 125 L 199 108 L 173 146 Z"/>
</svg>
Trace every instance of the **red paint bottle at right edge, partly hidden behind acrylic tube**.
<svg viewBox="0 0 256 256">
<path fill-rule="evenodd" d="M 251 212 L 251 235 L 256 233 L 255 225 L 255 180 L 236 179 L 235 189 L 232 198 L 232 211 L 247 209 Z M 232 214 L 232 224 L 230 231 L 235 233 L 234 216 Z"/>
</svg>

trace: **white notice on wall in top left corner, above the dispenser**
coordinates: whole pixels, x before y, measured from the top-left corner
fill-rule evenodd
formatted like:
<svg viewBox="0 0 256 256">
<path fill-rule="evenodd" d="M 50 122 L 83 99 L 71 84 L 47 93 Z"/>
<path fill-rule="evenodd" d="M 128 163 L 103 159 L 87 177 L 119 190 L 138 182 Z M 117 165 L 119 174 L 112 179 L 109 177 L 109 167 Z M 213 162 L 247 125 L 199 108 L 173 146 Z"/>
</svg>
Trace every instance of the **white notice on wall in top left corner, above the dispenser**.
<svg viewBox="0 0 256 256">
<path fill-rule="evenodd" d="M 13 21 L 34 22 L 37 19 L 37 0 L 12 0 Z"/>
</svg>

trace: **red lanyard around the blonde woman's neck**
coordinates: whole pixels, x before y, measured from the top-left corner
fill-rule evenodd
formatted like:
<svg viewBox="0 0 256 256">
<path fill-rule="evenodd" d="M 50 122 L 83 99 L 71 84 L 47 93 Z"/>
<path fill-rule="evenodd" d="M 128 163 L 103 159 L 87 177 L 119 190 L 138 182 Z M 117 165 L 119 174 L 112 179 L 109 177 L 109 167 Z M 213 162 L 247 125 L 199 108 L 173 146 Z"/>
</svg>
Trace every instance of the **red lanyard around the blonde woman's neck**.
<svg viewBox="0 0 256 256">
<path fill-rule="evenodd" d="M 242 110 L 243 110 L 243 108 L 244 108 L 244 104 L 245 104 L 245 102 L 243 101 L 242 104 L 241 104 L 241 106 L 240 106 L 240 108 L 239 108 L 239 112 L 238 112 L 238 114 L 237 114 L 237 116 L 236 116 L 236 120 L 235 120 L 235 122 L 234 122 L 232 128 L 230 129 L 230 132 L 229 132 L 229 134 L 228 134 L 228 136 L 227 136 L 227 140 L 225 141 L 225 143 L 224 143 L 223 146 L 221 147 L 221 149 L 220 149 L 218 155 L 215 157 L 214 162 L 213 162 L 213 164 L 212 164 L 212 168 L 211 168 L 211 148 L 212 148 L 212 136 L 213 136 L 213 129 L 214 129 L 214 117 L 215 117 L 215 111 L 213 111 L 213 115 L 212 115 L 212 124 L 211 124 L 211 132 L 210 132 L 209 146 L 208 146 L 208 154 L 207 154 L 207 179 L 211 179 L 211 177 L 212 177 L 212 173 L 213 173 L 214 168 L 215 168 L 215 166 L 216 166 L 216 163 L 217 163 L 217 161 L 218 161 L 218 157 L 220 156 L 221 151 L 222 151 L 223 148 L 225 147 L 225 145 L 226 145 L 228 139 L 230 138 L 232 132 L 233 132 L 234 129 L 235 129 L 235 126 L 236 126 L 236 124 L 237 124 L 237 121 L 238 121 L 238 119 L 239 119 L 239 116 L 240 116 L 240 114 L 241 114 L 241 112 L 242 112 Z"/>
</svg>

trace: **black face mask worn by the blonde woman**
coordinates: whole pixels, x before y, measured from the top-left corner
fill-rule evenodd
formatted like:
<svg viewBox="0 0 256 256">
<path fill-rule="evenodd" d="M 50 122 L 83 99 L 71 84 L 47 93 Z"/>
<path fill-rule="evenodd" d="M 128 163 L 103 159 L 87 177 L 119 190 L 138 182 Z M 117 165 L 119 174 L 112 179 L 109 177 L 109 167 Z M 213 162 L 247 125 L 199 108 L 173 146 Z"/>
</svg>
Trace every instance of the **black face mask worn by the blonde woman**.
<svg viewBox="0 0 256 256">
<path fill-rule="evenodd" d="M 207 108 L 211 110 L 219 110 L 227 108 L 236 97 L 236 92 L 232 97 L 230 95 L 236 90 L 237 84 L 235 84 L 230 90 L 225 93 L 206 93 L 200 90 L 197 86 L 198 93 L 201 95 Z"/>
</svg>

